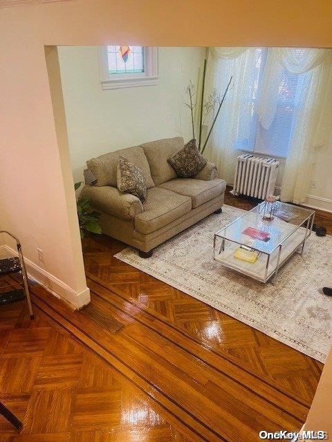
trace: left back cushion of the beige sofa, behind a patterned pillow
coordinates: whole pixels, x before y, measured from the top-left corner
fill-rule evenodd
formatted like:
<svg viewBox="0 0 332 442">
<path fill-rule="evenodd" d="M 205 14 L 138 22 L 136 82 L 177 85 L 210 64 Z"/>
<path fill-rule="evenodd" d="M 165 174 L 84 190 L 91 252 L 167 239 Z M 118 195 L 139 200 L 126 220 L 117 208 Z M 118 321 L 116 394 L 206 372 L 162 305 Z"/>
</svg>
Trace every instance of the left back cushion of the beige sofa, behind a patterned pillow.
<svg viewBox="0 0 332 442">
<path fill-rule="evenodd" d="M 96 186 L 117 186 L 116 171 L 119 164 L 120 155 L 127 158 L 131 163 L 137 166 L 145 176 L 147 189 L 154 187 L 154 181 L 151 178 L 151 172 L 147 157 L 141 146 L 129 147 L 116 152 L 105 153 L 100 157 L 92 158 L 86 162 L 95 179 Z"/>
</svg>

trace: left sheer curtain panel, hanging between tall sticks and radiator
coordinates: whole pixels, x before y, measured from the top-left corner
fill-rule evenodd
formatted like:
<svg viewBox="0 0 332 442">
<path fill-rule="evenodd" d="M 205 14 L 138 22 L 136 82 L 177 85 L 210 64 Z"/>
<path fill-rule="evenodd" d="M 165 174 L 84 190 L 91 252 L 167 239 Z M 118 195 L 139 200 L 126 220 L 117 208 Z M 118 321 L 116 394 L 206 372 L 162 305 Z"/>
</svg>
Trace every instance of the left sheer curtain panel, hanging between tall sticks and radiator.
<svg viewBox="0 0 332 442">
<path fill-rule="evenodd" d="M 216 120 L 211 142 L 207 148 L 208 156 L 217 164 L 219 175 L 226 182 L 233 180 L 237 157 L 234 142 L 240 132 L 244 133 L 249 130 L 250 104 L 255 84 L 255 48 L 212 48 L 210 50 L 206 90 L 216 88 L 223 95 L 231 76 L 233 77 L 232 85 Z M 210 115 L 210 120 L 212 117 L 213 115 Z M 205 121 L 206 123 L 208 122 Z"/>
</svg>

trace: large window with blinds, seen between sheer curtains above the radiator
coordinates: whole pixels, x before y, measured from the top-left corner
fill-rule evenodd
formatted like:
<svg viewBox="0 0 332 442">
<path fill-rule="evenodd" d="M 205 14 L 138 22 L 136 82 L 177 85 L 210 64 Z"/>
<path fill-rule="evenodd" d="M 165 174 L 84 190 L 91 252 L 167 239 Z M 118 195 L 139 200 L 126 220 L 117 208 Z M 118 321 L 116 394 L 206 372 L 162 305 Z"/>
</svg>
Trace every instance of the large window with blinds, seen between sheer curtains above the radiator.
<svg viewBox="0 0 332 442">
<path fill-rule="evenodd" d="M 301 51 L 301 49 L 299 49 Z M 255 84 L 252 88 L 250 134 L 248 138 L 238 139 L 235 148 L 275 157 L 286 157 L 296 122 L 297 111 L 302 107 L 302 90 L 306 87 L 308 73 L 295 75 L 282 70 L 277 94 L 275 117 L 268 129 L 259 122 L 256 112 L 260 95 L 264 68 L 268 56 L 267 48 L 257 48 L 255 65 Z M 310 75 L 310 74 L 309 74 Z M 241 119 L 240 119 L 241 122 Z M 241 124 L 241 123 L 240 123 Z"/>
</svg>

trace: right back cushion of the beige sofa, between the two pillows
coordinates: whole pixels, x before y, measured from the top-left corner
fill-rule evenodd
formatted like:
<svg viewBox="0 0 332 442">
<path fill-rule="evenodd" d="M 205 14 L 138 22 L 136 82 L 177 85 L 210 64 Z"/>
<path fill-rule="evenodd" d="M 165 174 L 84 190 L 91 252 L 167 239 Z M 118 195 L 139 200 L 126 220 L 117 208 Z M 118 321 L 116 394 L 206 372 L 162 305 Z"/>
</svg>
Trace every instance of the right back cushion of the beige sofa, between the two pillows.
<svg viewBox="0 0 332 442">
<path fill-rule="evenodd" d="M 176 171 L 174 171 L 173 167 L 168 164 L 167 160 L 169 157 L 172 157 L 174 153 L 183 148 L 183 137 L 151 141 L 142 144 L 142 148 L 145 155 L 147 155 L 151 177 L 156 186 L 177 178 Z"/>
</svg>

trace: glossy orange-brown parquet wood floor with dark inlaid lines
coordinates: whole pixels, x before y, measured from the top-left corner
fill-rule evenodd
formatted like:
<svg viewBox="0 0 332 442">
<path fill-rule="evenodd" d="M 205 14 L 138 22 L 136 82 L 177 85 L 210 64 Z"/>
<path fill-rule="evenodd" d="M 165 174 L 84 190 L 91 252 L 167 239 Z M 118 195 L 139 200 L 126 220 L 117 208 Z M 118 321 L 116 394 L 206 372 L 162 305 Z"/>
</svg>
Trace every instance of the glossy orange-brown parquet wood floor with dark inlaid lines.
<svg viewBox="0 0 332 442">
<path fill-rule="evenodd" d="M 331 221 L 318 214 L 329 231 Z M 322 364 L 113 258 L 122 247 L 84 242 L 81 311 L 37 285 L 35 323 L 21 303 L 0 309 L 0 400 L 25 423 L 10 439 L 0 421 L 0 441 L 250 442 L 299 430 Z"/>
</svg>

